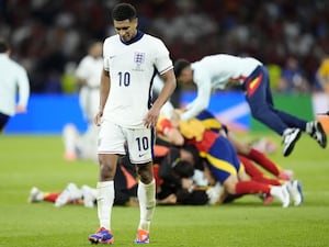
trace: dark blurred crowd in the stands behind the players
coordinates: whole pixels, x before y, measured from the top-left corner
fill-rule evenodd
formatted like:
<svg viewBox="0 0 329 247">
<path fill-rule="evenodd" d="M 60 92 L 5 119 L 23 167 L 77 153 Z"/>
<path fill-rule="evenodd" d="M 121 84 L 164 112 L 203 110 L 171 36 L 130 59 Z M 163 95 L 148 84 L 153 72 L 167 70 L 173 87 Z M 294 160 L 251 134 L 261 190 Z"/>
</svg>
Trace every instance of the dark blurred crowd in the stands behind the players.
<svg viewBox="0 0 329 247">
<path fill-rule="evenodd" d="M 76 66 L 92 42 L 114 34 L 111 10 L 117 2 L 0 0 L 0 36 L 27 69 L 32 92 L 77 91 Z M 324 90 L 317 71 L 329 55 L 327 0 L 125 2 L 136 5 L 139 29 L 161 37 L 173 60 L 217 53 L 253 56 L 269 66 L 276 92 Z"/>
</svg>

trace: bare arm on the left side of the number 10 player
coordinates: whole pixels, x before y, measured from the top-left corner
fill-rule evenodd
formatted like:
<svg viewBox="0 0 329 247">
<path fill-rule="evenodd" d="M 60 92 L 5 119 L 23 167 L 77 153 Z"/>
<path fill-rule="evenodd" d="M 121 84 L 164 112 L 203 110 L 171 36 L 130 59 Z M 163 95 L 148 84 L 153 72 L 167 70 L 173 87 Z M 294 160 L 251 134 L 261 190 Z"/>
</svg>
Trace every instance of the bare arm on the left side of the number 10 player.
<svg viewBox="0 0 329 247">
<path fill-rule="evenodd" d="M 103 69 L 101 74 L 101 86 L 100 86 L 100 108 L 94 119 L 94 123 L 98 126 L 101 124 L 101 117 L 103 116 L 103 111 L 110 93 L 110 88 L 111 88 L 110 72 Z"/>
</svg>

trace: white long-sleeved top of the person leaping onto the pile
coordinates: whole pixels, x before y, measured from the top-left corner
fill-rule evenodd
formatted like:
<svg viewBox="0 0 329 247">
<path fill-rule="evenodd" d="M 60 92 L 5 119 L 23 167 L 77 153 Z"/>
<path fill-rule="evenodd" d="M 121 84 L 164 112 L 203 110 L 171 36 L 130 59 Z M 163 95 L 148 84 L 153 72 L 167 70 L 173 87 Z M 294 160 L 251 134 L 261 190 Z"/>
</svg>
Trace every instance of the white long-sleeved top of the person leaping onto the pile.
<svg viewBox="0 0 329 247">
<path fill-rule="evenodd" d="M 262 65 L 252 57 L 238 57 L 227 54 L 205 56 L 198 61 L 192 63 L 193 80 L 197 88 L 196 98 L 186 105 L 182 120 L 196 116 L 208 106 L 212 93 L 219 89 L 226 89 L 231 85 L 242 85 L 245 79 Z"/>
</svg>

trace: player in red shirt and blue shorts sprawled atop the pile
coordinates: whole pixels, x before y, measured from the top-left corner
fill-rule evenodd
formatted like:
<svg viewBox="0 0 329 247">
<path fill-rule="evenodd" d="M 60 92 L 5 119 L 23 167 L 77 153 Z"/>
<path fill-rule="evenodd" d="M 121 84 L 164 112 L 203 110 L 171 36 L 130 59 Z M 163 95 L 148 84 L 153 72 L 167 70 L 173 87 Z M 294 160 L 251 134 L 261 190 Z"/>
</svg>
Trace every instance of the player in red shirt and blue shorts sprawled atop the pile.
<svg viewBox="0 0 329 247">
<path fill-rule="evenodd" d="M 283 207 L 288 206 L 290 194 L 287 187 L 285 184 L 271 186 L 250 180 L 238 159 L 234 146 L 223 134 L 220 135 L 206 128 L 197 119 L 190 121 L 162 119 L 158 125 L 159 132 L 162 130 L 163 134 L 168 132 L 168 128 L 178 128 L 185 142 L 196 147 L 200 156 L 206 160 L 213 176 L 224 186 L 227 193 L 269 194 L 279 199 Z"/>
</svg>

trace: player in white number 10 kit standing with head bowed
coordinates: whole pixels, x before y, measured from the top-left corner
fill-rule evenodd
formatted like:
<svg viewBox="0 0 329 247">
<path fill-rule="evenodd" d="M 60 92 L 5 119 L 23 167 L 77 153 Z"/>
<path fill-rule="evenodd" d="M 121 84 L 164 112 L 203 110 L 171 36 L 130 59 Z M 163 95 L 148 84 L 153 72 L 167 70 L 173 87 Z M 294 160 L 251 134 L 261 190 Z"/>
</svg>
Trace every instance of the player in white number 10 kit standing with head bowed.
<svg viewBox="0 0 329 247">
<path fill-rule="evenodd" d="M 92 244 L 112 244 L 111 214 L 113 179 L 120 155 L 126 149 L 139 177 L 137 197 L 140 221 L 136 244 L 149 243 L 149 227 L 156 207 L 152 173 L 154 126 L 161 106 L 175 89 L 173 65 L 164 44 L 137 30 L 138 19 L 132 4 L 116 4 L 112 11 L 116 35 L 103 44 L 104 69 L 101 76 L 100 108 L 95 123 L 99 134 L 100 177 L 98 215 L 100 228 L 89 236 Z M 158 71 L 163 89 L 151 103 L 151 81 Z"/>
</svg>

